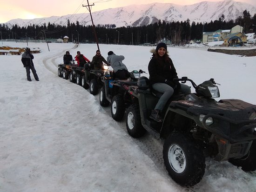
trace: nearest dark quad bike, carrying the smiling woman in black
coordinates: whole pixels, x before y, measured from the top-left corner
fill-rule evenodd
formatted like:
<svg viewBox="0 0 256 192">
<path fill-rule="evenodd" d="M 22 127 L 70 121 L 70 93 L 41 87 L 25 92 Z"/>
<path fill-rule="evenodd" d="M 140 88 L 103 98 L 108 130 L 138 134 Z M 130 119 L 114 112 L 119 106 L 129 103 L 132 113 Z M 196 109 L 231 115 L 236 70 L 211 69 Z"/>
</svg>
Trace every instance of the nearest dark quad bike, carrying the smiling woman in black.
<svg viewBox="0 0 256 192">
<path fill-rule="evenodd" d="M 142 79 L 143 78 L 143 79 Z M 163 122 L 149 119 L 159 96 L 141 77 L 129 86 L 132 104 L 126 112 L 128 134 L 141 137 L 146 131 L 164 139 L 163 159 L 172 179 L 180 185 L 199 183 L 205 172 L 205 157 L 228 160 L 244 171 L 256 170 L 256 105 L 220 96 L 214 79 L 196 84 L 187 77 L 196 93 L 175 94 L 162 114 Z"/>
</svg>

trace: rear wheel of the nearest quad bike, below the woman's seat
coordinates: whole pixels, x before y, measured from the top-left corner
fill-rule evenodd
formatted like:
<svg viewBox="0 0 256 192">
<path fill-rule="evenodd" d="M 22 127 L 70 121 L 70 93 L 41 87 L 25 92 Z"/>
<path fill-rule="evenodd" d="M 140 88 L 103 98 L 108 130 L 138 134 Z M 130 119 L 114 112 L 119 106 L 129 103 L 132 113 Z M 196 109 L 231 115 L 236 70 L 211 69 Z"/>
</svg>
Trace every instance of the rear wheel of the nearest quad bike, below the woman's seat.
<svg viewBox="0 0 256 192">
<path fill-rule="evenodd" d="M 126 129 L 130 136 L 134 138 L 141 137 L 146 130 L 141 125 L 140 107 L 133 104 L 128 107 L 126 112 Z"/>
</svg>

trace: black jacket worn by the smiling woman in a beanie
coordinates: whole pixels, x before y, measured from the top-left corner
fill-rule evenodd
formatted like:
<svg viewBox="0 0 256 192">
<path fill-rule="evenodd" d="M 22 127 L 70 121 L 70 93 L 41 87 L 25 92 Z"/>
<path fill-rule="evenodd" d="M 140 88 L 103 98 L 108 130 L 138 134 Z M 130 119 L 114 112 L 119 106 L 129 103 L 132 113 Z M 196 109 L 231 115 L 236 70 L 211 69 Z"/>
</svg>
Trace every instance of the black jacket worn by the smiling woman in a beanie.
<svg viewBox="0 0 256 192">
<path fill-rule="evenodd" d="M 149 82 L 154 83 L 165 83 L 165 79 L 172 81 L 173 78 L 177 78 L 176 69 L 173 62 L 168 58 L 168 62 L 163 58 L 157 59 L 155 56 L 149 61 L 148 64 Z"/>
</svg>

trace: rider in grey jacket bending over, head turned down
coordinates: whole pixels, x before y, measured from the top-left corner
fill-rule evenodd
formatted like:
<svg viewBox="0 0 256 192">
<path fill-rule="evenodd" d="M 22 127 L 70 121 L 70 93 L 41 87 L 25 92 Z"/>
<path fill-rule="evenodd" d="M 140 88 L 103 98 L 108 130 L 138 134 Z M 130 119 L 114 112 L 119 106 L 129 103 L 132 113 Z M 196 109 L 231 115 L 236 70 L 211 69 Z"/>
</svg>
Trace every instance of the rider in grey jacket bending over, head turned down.
<svg viewBox="0 0 256 192">
<path fill-rule="evenodd" d="M 124 56 L 115 55 L 113 51 L 108 52 L 107 61 L 114 70 L 115 78 L 128 79 L 129 72 L 127 67 L 122 63 L 122 60 L 124 60 Z"/>
</svg>

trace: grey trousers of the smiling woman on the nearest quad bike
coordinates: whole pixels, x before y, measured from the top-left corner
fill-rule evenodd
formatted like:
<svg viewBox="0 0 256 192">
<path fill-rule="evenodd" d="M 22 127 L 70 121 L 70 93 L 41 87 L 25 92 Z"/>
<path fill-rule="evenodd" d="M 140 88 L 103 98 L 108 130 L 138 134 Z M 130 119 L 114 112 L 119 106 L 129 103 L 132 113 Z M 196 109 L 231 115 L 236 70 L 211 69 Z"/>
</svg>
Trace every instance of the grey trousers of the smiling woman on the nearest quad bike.
<svg viewBox="0 0 256 192">
<path fill-rule="evenodd" d="M 152 85 L 152 88 L 155 89 L 156 91 L 163 93 L 162 96 L 160 97 L 159 101 L 157 102 L 155 106 L 155 110 L 160 110 L 162 112 L 165 104 L 167 103 L 168 99 L 173 95 L 174 89 L 171 86 L 168 86 L 165 83 L 154 83 Z M 184 94 L 191 93 L 191 89 L 189 86 L 184 85 L 181 83 L 181 92 Z"/>
</svg>

